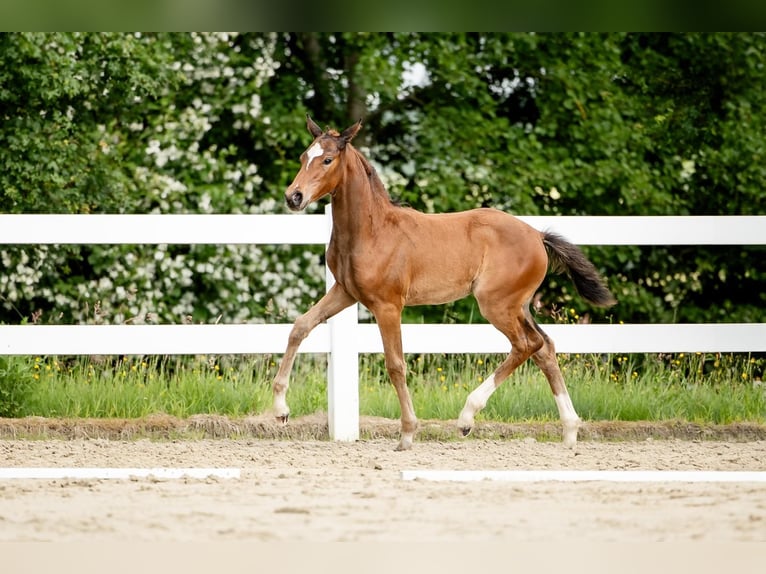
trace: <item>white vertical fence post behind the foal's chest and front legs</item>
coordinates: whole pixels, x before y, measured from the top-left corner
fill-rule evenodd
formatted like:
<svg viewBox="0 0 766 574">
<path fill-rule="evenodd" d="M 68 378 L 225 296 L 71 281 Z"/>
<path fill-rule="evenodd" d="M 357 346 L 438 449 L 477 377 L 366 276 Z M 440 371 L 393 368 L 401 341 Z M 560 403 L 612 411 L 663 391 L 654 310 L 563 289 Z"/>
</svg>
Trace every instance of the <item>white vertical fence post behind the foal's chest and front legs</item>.
<svg viewBox="0 0 766 574">
<path fill-rule="evenodd" d="M 328 225 L 332 225 L 332 208 L 325 208 Z M 335 283 L 329 267 L 325 267 L 327 289 Z M 359 439 L 359 351 L 356 326 L 358 304 L 351 305 L 328 319 L 330 355 L 327 365 L 327 422 L 330 438 L 338 441 Z"/>
</svg>

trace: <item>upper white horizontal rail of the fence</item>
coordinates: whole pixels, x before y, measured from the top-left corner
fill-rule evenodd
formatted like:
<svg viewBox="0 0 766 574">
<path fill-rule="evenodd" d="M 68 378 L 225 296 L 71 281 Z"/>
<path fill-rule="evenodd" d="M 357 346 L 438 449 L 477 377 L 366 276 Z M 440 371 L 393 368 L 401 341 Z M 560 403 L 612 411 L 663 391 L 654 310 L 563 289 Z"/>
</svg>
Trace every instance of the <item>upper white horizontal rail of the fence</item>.
<svg viewBox="0 0 766 574">
<path fill-rule="evenodd" d="M 300 219 L 296 219 L 296 218 Z M 578 245 L 766 245 L 766 215 L 522 216 Z M 326 244 L 330 216 L 8 215 L 0 244 Z"/>
</svg>

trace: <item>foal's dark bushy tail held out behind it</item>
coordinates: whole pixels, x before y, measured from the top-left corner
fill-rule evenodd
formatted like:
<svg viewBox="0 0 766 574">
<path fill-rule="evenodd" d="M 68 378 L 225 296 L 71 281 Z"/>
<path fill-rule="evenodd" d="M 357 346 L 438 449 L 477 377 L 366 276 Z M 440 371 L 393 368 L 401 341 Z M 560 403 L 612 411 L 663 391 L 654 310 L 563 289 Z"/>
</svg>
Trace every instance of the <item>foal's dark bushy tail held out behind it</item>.
<svg viewBox="0 0 766 574">
<path fill-rule="evenodd" d="M 610 307 L 617 303 L 604 279 L 579 247 L 549 231 L 543 232 L 543 244 L 548 251 L 551 269 L 557 273 L 566 272 L 577 292 L 588 303 L 598 307 Z"/>
</svg>

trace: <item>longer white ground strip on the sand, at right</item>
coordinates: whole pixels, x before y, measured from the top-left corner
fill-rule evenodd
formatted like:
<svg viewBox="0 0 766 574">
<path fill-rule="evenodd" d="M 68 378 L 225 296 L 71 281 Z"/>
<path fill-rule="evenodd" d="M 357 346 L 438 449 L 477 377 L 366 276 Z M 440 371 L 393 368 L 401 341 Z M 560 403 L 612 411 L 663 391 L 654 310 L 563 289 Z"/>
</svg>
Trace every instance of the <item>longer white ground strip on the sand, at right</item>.
<svg viewBox="0 0 766 574">
<path fill-rule="evenodd" d="M 403 470 L 402 480 L 475 482 L 766 482 L 764 471 L 724 470 Z"/>
</svg>

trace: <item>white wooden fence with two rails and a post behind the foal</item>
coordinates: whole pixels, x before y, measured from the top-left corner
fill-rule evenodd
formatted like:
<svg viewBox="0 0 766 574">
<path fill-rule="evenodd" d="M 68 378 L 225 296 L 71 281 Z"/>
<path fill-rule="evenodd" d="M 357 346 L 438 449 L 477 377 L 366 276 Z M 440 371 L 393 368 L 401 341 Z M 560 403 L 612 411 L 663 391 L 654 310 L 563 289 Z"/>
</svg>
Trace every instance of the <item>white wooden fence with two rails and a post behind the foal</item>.
<svg viewBox="0 0 766 574">
<path fill-rule="evenodd" d="M 766 245 L 766 216 L 522 217 L 578 245 Z M 324 215 L 0 215 L 0 244 L 327 244 Z M 328 271 L 328 286 L 332 277 Z M 764 286 L 766 288 L 766 285 Z M 619 293 L 616 294 L 619 299 Z M 0 325 L 2 355 L 282 353 L 291 325 Z M 561 353 L 766 352 L 766 322 L 545 325 Z M 406 353 L 505 353 L 490 325 L 402 326 Z M 359 354 L 377 326 L 351 307 L 303 353 L 327 353 L 330 436 L 359 436 Z"/>
</svg>

